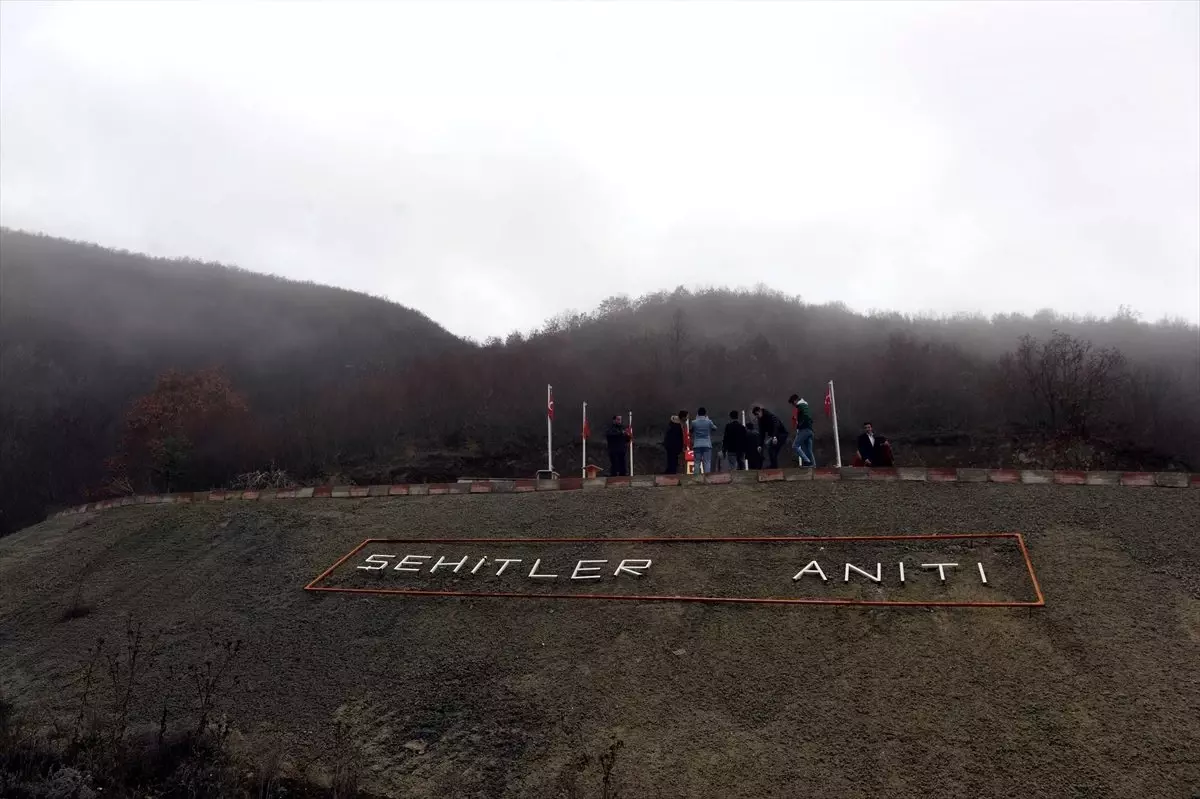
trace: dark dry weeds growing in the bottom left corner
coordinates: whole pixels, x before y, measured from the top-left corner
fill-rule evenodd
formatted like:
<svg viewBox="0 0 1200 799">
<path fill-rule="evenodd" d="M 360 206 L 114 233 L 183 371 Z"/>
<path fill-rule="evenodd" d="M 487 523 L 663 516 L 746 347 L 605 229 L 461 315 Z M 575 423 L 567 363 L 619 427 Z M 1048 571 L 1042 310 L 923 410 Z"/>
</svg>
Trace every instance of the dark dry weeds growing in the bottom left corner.
<svg viewBox="0 0 1200 799">
<path fill-rule="evenodd" d="M 238 639 L 210 639 L 191 662 L 167 663 L 164 684 L 173 687 L 148 701 L 145 678 L 164 660 L 158 644 L 133 618 L 122 641 L 97 639 L 72 674 L 66 722 L 38 719 L 0 696 L 0 795 L 271 799 L 324 797 L 330 789 L 340 799 L 365 795 L 352 758 L 338 759 L 332 785 L 324 787 L 284 779 L 278 750 L 258 762 L 234 752 L 224 708 L 240 683 Z M 134 705 L 156 707 L 157 721 L 134 725 Z"/>
</svg>

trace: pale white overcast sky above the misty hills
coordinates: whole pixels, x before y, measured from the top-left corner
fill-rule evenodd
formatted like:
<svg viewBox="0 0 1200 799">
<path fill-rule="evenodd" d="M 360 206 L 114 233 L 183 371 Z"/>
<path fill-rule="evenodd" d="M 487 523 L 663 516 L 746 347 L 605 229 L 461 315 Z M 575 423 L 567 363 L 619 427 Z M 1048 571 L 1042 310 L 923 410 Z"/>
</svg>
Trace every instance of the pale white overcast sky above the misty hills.
<svg viewBox="0 0 1200 799">
<path fill-rule="evenodd" d="M 0 4 L 0 222 L 482 338 L 766 283 L 1200 320 L 1200 4 Z"/>
</svg>

